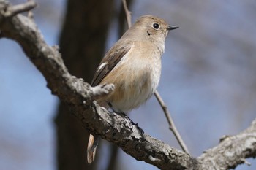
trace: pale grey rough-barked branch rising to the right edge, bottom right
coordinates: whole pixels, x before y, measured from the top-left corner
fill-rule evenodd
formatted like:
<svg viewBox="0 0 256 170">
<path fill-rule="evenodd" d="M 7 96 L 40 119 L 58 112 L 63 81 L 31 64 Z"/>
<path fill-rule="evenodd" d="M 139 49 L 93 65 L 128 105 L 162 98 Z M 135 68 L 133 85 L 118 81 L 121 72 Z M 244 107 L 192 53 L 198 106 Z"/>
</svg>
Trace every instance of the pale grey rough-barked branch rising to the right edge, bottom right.
<svg viewBox="0 0 256 170">
<path fill-rule="evenodd" d="M 236 136 L 224 136 L 217 147 L 206 150 L 198 160 L 200 169 L 235 169 L 245 158 L 256 157 L 256 120 Z"/>
</svg>

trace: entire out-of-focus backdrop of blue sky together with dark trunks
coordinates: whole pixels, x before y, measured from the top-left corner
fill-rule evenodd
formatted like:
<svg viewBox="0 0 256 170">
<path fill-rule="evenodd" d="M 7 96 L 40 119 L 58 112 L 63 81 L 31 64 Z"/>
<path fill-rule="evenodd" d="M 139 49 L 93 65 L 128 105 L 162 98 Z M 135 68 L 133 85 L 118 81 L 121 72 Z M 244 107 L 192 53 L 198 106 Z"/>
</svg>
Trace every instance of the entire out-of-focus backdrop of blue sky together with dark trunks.
<svg viewBox="0 0 256 170">
<path fill-rule="evenodd" d="M 37 2 L 34 20 L 45 41 L 59 45 L 69 71 L 90 82 L 127 28 L 121 1 Z M 180 26 L 167 36 L 158 90 L 194 157 L 250 125 L 256 118 L 255 1 L 133 0 L 129 10 L 132 22 L 151 14 Z M 0 169 L 157 169 L 116 153 L 108 142 L 101 144 L 97 165 L 88 166 L 88 132 L 51 95 L 16 42 L 1 39 L 0 52 Z M 129 117 L 180 149 L 154 97 Z M 252 165 L 236 169 L 256 169 L 256 160 L 247 161 Z"/>
</svg>

